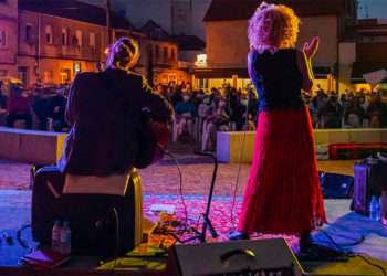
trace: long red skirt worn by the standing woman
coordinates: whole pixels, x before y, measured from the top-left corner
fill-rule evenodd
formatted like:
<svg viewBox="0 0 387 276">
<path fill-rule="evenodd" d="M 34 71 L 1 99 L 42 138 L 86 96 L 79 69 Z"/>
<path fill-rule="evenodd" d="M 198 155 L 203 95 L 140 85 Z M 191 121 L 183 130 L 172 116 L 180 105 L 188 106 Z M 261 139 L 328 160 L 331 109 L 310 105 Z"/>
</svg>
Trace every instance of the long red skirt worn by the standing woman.
<svg viewBox="0 0 387 276">
<path fill-rule="evenodd" d="M 325 222 L 307 107 L 261 112 L 238 229 L 301 234 Z"/>
</svg>

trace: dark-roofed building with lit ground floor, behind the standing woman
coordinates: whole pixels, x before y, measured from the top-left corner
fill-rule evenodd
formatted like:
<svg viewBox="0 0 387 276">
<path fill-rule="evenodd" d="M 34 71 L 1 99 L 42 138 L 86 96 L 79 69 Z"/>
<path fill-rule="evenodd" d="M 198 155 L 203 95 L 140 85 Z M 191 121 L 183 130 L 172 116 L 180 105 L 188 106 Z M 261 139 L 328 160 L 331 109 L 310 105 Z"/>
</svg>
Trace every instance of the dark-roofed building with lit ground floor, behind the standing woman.
<svg viewBox="0 0 387 276">
<path fill-rule="evenodd" d="M 351 65 L 355 61 L 351 53 L 354 54 L 355 43 L 348 30 L 356 21 L 355 1 L 338 0 L 331 4 L 322 0 L 274 2 L 292 7 L 301 18 L 297 47 L 315 35 L 321 38 L 314 59 L 316 84 L 325 89 L 337 89 L 338 84 L 351 85 Z M 255 0 L 212 0 L 205 17 L 207 61 L 195 70 L 197 86 L 218 87 L 227 82 L 245 87 L 250 83 L 247 72 L 248 20 L 259 4 L 260 1 Z M 341 45 L 342 42 L 345 44 Z"/>
</svg>

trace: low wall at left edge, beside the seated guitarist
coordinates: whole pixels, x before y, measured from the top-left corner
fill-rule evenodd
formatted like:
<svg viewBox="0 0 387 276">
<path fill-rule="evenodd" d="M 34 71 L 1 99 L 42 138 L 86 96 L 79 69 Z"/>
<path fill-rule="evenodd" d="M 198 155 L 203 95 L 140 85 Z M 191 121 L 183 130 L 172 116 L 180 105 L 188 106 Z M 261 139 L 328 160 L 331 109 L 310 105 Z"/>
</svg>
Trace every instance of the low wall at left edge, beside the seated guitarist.
<svg viewBox="0 0 387 276">
<path fill-rule="evenodd" d="M 66 134 L 0 127 L 0 159 L 55 163 Z"/>
</svg>

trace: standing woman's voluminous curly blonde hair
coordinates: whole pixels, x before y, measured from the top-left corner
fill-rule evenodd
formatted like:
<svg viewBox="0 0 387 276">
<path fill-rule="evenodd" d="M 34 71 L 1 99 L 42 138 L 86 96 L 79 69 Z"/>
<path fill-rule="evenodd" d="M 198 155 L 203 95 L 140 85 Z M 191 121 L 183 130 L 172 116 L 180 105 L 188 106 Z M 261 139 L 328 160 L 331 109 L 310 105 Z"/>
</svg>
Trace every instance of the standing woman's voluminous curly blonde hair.
<svg viewBox="0 0 387 276">
<path fill-rule="evenodd" d="M 260 52 L 294 47 L 299 24 L 300 19 L 291 8 L 262 2 L 249 21 L 250 46 Z"/>
</svg>

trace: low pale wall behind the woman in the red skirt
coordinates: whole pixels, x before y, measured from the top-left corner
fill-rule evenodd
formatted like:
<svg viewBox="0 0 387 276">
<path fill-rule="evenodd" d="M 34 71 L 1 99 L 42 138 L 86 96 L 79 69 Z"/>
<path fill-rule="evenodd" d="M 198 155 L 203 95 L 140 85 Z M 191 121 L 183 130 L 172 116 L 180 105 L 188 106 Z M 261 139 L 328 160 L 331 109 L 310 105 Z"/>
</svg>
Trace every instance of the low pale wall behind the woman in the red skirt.
<svg viewBox="0 0 387 276">
<path fill-rule="evenodd" d="M 245 137 L 243 134 L 243 131 L 217 134 L 219 162 L 238 163 L 240 158 L 243 163 L 251 162 L 255 131 L 247 131 Z M 387 128 L 314 129 L 314 139 L 316 147 L 346 142 L 387 142 Z"/>
</svg>

